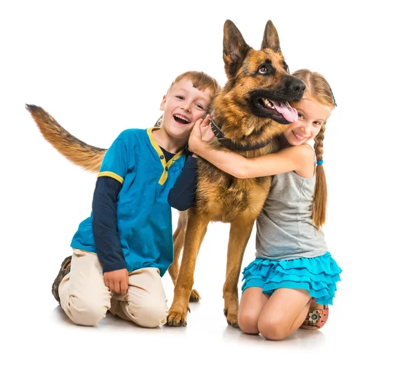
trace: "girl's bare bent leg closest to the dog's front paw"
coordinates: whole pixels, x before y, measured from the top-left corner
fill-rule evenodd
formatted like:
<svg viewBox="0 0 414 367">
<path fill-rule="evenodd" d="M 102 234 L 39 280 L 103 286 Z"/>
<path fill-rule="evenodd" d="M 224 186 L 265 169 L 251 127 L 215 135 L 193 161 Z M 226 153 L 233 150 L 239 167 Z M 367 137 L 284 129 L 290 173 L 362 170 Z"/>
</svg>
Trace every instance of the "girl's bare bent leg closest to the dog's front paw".
<svg viewBox="0 0 414 367">
<path fill-rule="evenodd" d="M 263 288 L 250 287 L 244 290 L 239 306 L 239 328 L 247 334 L 259 334 L 257 323 L 260 313 L 269 299 Z M 303 321 L 303 320 L 302 320 Z"/>
</svg>

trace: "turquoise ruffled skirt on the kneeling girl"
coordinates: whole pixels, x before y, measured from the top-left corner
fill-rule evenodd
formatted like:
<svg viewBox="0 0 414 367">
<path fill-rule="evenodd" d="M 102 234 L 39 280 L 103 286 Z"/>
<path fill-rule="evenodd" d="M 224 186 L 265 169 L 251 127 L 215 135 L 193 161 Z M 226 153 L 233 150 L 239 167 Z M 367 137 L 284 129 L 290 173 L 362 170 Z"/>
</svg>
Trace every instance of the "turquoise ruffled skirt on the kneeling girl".
<svg viewBox="0 0 414 367">
<path fill-rule="evenodd" d="M 318 257 L 275 261 L 255 259 L 243 271 L 242 291 L 263 288 L 271 295 L 278 288 L 306 289 L 317 304 L 332 304 L 342 269 L 329 252 Z"/>
</svg>

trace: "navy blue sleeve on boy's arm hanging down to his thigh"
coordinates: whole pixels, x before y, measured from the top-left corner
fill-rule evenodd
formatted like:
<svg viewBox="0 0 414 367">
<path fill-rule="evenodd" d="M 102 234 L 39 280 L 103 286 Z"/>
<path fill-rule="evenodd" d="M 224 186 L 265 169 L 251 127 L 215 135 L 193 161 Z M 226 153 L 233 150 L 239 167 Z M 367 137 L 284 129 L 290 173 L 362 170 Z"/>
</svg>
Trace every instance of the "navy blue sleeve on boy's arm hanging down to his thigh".
<svg viewBox="0 0 414 367">
<path fill-rule="evenodd" d="M 122 184 L 112 177 L 99 177 L 92 201 L 92 231 L 103 272 L 125 269 L 117 226 L 117 197 Z"/>
</svg>

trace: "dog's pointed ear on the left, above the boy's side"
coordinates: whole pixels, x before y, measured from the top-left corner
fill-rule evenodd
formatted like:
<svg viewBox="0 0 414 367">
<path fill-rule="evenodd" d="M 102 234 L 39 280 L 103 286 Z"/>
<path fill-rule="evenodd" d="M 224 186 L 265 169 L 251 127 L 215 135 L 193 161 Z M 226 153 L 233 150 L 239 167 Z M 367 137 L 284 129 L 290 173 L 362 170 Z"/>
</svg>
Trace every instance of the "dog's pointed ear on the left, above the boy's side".
<svg viewBox="0 0 414 367">
<path fill-rule="evenodd" d="M 224 23 L 223 59 L 228 78 L 235 76 L 237 70 L 242 66 L 248 50 L 250 50 L 250 46 L 244 41 L 242 33 L 237 29 L 235 23 L 226 20 Z"/>
</svg>

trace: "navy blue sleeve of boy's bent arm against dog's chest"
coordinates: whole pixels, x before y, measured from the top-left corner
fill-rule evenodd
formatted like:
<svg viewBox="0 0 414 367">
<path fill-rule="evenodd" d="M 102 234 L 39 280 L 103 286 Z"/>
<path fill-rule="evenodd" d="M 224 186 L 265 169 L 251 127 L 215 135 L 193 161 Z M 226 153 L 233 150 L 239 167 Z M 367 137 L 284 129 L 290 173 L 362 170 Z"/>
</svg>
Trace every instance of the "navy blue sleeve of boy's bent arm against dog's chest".
<svg viewBox="0 0 414 367">
<path fill-rule="evenodd" d="M 195 203 L 197 190 L 197 158 L 189 156 L 183 171 L 168 192 L 168 203 L 177 210 L 187 210 Z"/>
</svg>

